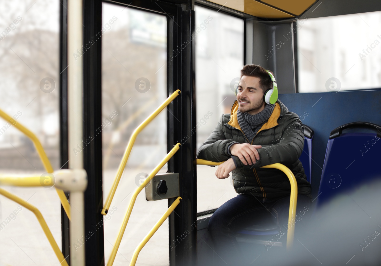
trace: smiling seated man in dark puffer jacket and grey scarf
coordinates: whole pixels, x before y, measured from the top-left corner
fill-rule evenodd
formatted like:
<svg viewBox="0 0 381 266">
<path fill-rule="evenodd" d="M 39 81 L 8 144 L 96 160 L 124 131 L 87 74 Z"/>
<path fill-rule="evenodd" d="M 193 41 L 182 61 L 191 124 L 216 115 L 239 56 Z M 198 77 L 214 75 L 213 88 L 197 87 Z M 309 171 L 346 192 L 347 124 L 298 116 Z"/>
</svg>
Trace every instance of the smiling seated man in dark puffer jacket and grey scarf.
<svg viewBox="0 0 381 266">
<path fill-rule="evenodd" d="M 311 184 L 298 159 L 304 145 L 301 121 L 280 100 L 265 103 L 264 93 L 272 88 L 271 76 L 264 68 L 245 65 L 231 113 L 221 116 L 197 154 L 199 159 L 225 161 L 216 176 L 224 179 L 232 172 L 234 189 L 239 193 L 219 207 L 208 224 L 221 265 L 239 265 L 235 259 L 243 254 L 235 233 L 240 229 L 269 216 L 279 230 L 287 230 L 290 182 L 282 171 L 261 166 L 278 162 L 287 166 L 298 184 L 296 212 L 311 209 Z M 281 242 L 285 244 L 285 237 Z"/>
</svg>

